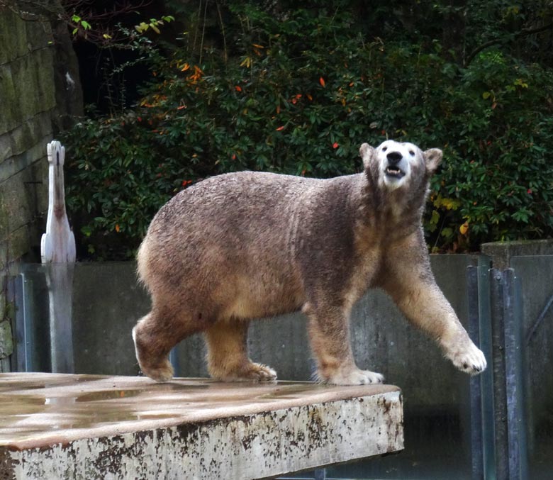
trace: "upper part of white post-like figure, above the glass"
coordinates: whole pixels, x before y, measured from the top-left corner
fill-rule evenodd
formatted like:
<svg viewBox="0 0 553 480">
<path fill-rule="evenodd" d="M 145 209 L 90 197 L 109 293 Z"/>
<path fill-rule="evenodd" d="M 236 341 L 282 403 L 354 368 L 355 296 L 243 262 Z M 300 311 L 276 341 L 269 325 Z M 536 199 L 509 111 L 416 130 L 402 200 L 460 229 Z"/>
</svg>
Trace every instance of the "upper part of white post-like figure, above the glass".
<svg viewBox="0 0 553 480">
<path fill-rule="evenodd" d="M 43 263 L 75 261 L 75 238 L 65 211 L 64 160 L 65 147 L 57 141 L 48 143 L 48 219 L 40 241 Z"/>
</svg>

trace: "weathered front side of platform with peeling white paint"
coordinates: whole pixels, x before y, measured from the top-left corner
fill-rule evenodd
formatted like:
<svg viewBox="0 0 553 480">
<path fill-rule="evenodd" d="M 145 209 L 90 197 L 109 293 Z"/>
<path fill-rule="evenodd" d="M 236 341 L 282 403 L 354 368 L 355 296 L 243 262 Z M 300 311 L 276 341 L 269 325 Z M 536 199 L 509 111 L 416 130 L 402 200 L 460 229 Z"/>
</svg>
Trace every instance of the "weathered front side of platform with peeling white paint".
<svg viewBox="0 0 553 480">
<path fill-rule="evenodd" d="M 402 449 L 401 392 L 390 391 L 50 447 L 0 448 L 0 471 L 3 480 L 247 480 Z"/>
</svg>

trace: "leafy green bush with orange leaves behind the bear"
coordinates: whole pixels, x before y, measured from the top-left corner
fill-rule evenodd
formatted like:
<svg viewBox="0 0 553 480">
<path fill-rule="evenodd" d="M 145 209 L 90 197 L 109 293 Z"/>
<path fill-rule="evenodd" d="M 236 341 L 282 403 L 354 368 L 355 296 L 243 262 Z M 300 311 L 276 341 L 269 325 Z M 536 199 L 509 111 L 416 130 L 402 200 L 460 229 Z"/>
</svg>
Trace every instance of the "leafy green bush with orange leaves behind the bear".
<svg viewBox="0 0 553 480">
<path fill-rule="evenodd" d="M 350 174 L 359 145 L 386 138 L 445 151 L 425 216 L 433 251 L 551 234 L 552 72 L 499 50 L 462 69 L 437 42 L 367 41 L 347 13 L 232 14 L 230 60 L 152 50 L 140 105 L 65 134 L 81 255 L 133 255 L 162 203 L 199 179 Z"/>
</svg>

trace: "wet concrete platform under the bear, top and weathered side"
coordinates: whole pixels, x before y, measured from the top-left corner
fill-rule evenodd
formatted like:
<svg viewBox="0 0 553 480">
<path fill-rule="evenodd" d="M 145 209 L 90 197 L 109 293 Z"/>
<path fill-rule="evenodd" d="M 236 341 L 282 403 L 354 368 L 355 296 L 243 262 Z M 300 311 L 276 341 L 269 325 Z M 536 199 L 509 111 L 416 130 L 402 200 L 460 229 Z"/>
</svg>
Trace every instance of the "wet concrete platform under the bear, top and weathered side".
<svg viewBox="0 0 553 480">
<path fill-rule="evenodd" d="M 369 400 L 372 401 L 371 406 L 367 403 Z M 355 419 L 342 418 L 352 416 L 347 413 L 352 408 L 355 412 L 362 412 L 361 416 Z M 369 415 L 371 412 L 372 416 Z M 279 449 L 286 444 L 286 437 L 291 439 L 290 445 L 286 446 L 288 449 L 302 445 L 305 440 L 308 443 L 301 447 L 305 455 L 305 452 L 318 452 L 321 448 L 325 450 L 325 445 L 320 442 L 321 432 L 328 429 L 329 432 L 333 431 L 337 423 L 349 429 L 348 435 L 351 435 L 352 429 L 362 429 L 356 435 L 364 435 L 363 429 L 366 430 L 368 442 L 371 441 L 368 432 L 372 428 L 378 448 L 362 450 L 367 454 L 381 454 L 403 447 L 402 413 L 400 391 L 389 385 L 324 386 L 287 381 L 222 383 L 210 379 L 174 379 L 156 384 L 145 377 L 130 376 L 0 374 L 0 470 L 4 462 L 4 467 L 15 472 L 6 478 L 38 478 L 48 474 L 60 478 L 95 478 L 96 470 L 98 476 L 110 478 L 104 475 L 102 468 L 94 470 L 94 464 L 89 464 L 94 459 L 94 452 L 98 451 L 104 456 L 106 452 L 111 452 L 111 457 L 115 458 L 112 464 L 118 467 L 112 465 L 116 472 L 113 478 L 121 474 L 136 478 L 162 478 L 160 465 L 156 467 L 154 462 L 152 470 L 148 470 L 150 473 L 140 474 L 142 470 L 138 471 L 135 460 L 132 460 L 145 454 L 145 435 L 150 439 L 148 442 L 155 445 L 151 448 L 156 452 L 164 452 L 165 457 L 169 455 L 173 458 L 171 449 L 174 445 L 180 445 L 180 453 L 174 454 L 176 459 L 181 458 L 183 445 L 186 445 L 187 452 L 192 451 L 192 443 L 197 443 L 203 435 L 214 446 L 218 445 L 219 449 L 222 445 L 225 447 L 224 462 L 230 462 L 230 467 L 221 467 L 221 472 L 242 465 L 244 460 L 240 456 L 248 455 L 247 451 L 252 448 L 246 445 L 244 437 L 237 437 L 237 428 L 243 430 L 242 434 L 246 438 L 255 438 L 255 442 L 277 442 L 275 445 L 279 445 Z M 321 418 L 327 417 L 328 422 L 332 419 L 332 423 L 325 425 L 327 420 Z M 316 425 L 313 424 L 315 420 Z M 353 423 L 349 425 L 351 421 Z M 255 427 L 256 422 L 262 422 L 259 424 L 262 425 L 261 430 L 267 428 L 263 435 L 259 425 Z M 272 428 L 267 427 L 269 423 Z M 301 428 L 307 430 L 298 432 L 298 428 L 301 430 L 298 425 L 303 425 Z M 214 433 L 217 429 L 220 431 Z M 155 440 L 158 437 L 160 440 Z M 114 438 L 118 442 L 123 438 L 125 448 L 133 453 L 127 450 L 113 453 L 109 444 L 110 439 Z M 204 457 L 210 457 L 214 452 L 210 452 L 209 448 L 206 450 L 206 441 L 203 440 L 197 446 L 202 461 L 208 462 Z M 329 441 L 328 438 L 325 440 Z M 229 447 L 236 442 L 238 447 Z M 65 452 L 68 445 L 70 454 Z M 261 448 L 260 445 L 264 443 L 256 448 Z M 60 446 L 65 450 L 58 452 L 56 449 Z M 330 452 L 337 451 L 335 446 L 329 448 Z M 84 464 L 89 465 L 81 470 L 77 462 L 79 449 L 86 452 Z M 351 447 L 345 458 L 339 454 L 330 455 L 329 458 L 332 462 L 349 460 L 353 450 L 355 448 Z M 65 458 L 66 453 L 70 458 Z M 41 460 L 40 455 L 57 459 L 50 470 L 45 470 L 48 462 L 44 462 L 44 458 Z M 322 461 L 318 459 L 320 455 L 313 453 L 311 464 L 318 465 Z M 223 457 L 220 457 L 222 462 Z M 289 458 L 283 457 L 286 458 L 284 463 L 288 465 L 292 457 L 294 452 L 290 450 Z M 281 459 L 280 464 L 283 461 Z M 209 462 L 213 464 L 213 457 Z M 25 468 L 30 469 L 33 464 L 40 465 L 40 468 L 32 471 L 23 468 L 26 465 Z M 62 471 L 59 470 L 60 464 L 66 465 Z M 163 465 L 166 468 L 167 462 Z M 293 471 L 296 467 L 294 462 L 289 467 L 281 465 L 275 474 Z M 215 474 L 213 468 L 211 465 L 204 470 L 210 471 L 211 475 Z M 79 476 L 79 471 L 82 471 L 82 476 Z M 264 469 L 265 473 L 267 471 L 273 474 L 276 470 L 269 466 Z M 204 477 L 196 472 L 186 478 Z M 243 478 L 256 476 L 250 474 Z"/>
</svg>

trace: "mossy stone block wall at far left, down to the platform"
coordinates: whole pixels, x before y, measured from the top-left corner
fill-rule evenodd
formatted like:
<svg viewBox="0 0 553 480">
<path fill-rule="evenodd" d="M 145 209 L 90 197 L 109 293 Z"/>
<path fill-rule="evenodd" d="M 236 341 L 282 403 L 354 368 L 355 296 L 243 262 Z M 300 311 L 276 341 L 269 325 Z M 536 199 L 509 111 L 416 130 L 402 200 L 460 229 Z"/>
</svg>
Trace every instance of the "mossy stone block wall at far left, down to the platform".
<svg viewBox="0 0 553 480">
<path fill-rule="evenodd" d="M 23 20 L 0 5 L 0 372 L 9 369 L 12 350 L 7 274 L 19 259 L 40 261 L 46 145 L 82 108 L 67 26 L 55 18 Z"/>
</svg>

